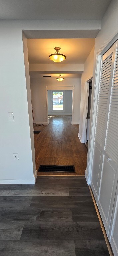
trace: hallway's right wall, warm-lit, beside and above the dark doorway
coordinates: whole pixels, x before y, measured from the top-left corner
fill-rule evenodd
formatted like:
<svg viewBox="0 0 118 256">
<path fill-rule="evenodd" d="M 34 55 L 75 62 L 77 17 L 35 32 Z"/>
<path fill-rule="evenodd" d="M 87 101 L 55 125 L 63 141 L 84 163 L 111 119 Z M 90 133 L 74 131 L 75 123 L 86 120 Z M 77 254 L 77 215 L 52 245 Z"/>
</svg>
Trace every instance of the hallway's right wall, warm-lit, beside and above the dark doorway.
<svg viewBox="0 0 118 256">
<path fill-rule="evenodd" d="M 84 72 L 82 73 L 81 83 L 81 105 L 80 105 L 80 125 L 79 125 L 79 136 L 83 137 L 83 110 L 84 110 L 84 90 L 85 82 L 93 76 L 93 63 L 94 63 L 94 47 L 90 52 L 88 58 L 84 63 Z"/>
</svg>

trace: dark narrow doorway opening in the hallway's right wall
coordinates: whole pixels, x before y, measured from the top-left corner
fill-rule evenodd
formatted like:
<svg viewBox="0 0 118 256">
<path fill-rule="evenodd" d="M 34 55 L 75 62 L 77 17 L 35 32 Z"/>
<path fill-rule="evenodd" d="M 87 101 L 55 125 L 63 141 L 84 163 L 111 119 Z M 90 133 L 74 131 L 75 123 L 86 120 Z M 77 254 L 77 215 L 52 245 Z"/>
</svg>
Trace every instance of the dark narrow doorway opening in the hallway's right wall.
<svg viewBox="0 0 118 256">
<path fill-rule="evenodd" d="M 87 116 L 86 116 L 86 141 L 85 141 L 85 146 L 87 147 L 87 149 L 88 149 L 88 141 L 89 141 L 91 94 L 92 94 L 92 80 L 89 82 L 89 85 L 88 85 L 88 107 L 87 107 Z"/>
</svg>

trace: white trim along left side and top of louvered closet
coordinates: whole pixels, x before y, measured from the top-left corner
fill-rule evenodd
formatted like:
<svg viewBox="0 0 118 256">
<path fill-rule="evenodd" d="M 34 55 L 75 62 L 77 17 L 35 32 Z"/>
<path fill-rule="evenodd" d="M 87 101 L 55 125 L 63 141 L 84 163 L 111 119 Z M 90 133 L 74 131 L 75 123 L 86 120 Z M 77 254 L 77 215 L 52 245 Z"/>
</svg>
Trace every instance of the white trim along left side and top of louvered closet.
<svg viewBox="0 0 118 256">
<path fill-rule="evenodd" d="M 95 78 L 94 78 L 94 88 L 92 90 L 92 113 L 90 115 L 90 130 L 89 130 L 89 143 L 88 143 L 88 157 L 87 157 L 87 167 L 85 170 L 85 178 L 90 185 L 92 167 L 93 167 L 93 151 L 94 151 L 94 139 L 95 139 L 95 129 L 96 129 L 96 116 L 97 116 L 97 104 L 98 104 L 98 92 L 99 92 L 99 80 L 100 80 L 100 67 L 101 59 L 105 52 L 117 41 L 118 33 L 115 31 L 107 40 L 99 51 L 96 53 L 96 65 L 95 65 Z"/>
</svg>

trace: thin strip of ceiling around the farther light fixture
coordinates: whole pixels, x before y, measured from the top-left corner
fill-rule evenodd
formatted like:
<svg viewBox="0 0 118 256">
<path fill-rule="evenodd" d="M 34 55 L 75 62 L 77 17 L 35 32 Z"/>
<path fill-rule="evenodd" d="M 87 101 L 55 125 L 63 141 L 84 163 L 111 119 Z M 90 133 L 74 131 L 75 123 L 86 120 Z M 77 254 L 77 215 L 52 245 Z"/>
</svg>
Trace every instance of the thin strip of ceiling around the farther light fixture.
<svg viewBox="0 0 118 256">
<path fill-rule="evenodd" d="M 61 77 L 64 78 L 81 78 L 81 74 L 63 74 L 63 73 L 59 73 L 60 75 L 62 75 Z M 40 74 L 38 72 L 33 72 L 30 71 L 30 78 L 43 78 L 43 79 L 56 79 L 57 77 L 59 77 L 59 74 L 52 74 L 52 73 L 46 73 L 46 74 Z M 51 77 L 43 77 L 43 76 L 51 76 Z"/>
</svg>

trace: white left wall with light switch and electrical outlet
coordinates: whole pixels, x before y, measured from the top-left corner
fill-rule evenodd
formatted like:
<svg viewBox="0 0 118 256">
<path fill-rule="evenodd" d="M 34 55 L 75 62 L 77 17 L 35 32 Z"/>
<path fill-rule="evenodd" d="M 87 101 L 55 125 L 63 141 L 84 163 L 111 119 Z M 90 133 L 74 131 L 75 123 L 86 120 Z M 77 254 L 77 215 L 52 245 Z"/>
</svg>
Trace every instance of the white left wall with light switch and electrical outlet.
<svg viewBox="0 0 118 256">
<path fill-rule="evenodd" d="M 17 30 L 17 26 L 15 30 L 8 23 L 1 27 L 1 183 L 34 182 L 35 162 L 31 148 L 33 128 L 30 129 L 29 126 L 30 111 L 27 101 L 30 98 L 30 85 L 29 88 L 26 87 L 26 48 L 25 37 L 22 39 L 22 31 Z M 13 112 L 14 121 L 9 121 L 8 112 Z M 13 153 L 18 153 L 19 160 L 13 159 Z"/>
</svg>

